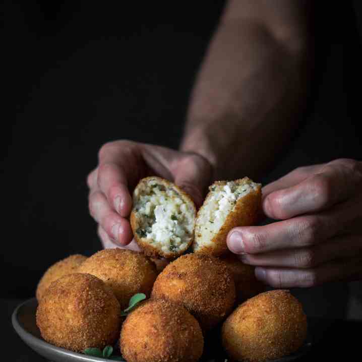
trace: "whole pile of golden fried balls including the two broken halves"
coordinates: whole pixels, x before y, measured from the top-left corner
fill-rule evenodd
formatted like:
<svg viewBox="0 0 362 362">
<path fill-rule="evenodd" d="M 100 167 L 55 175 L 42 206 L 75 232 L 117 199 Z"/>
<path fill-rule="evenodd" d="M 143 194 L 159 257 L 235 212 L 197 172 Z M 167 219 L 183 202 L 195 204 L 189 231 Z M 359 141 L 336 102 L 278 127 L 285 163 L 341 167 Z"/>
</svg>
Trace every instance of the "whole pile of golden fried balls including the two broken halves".
<svg viewBox="0 0 362 362">
<path fill-rule="evenodd" d="M 209 190 L 196 213 L 172 183 L 142 179 L 131 225 L 143 252 L 108 249 L 52 265 L 36 290 L 44 340 L 76 352 L 119 341 L 127 362 L 196 362 L 204 338 L 220 330 L 231 360 L 297 351 L 307 335 L 298 300 L 287 290 L 265 292 L 254 267 L 227 251 L 231 228 L 258 221 L 261 185 L 245 177 Z M 124 313 L 137 293 L 147 299 Z"/>
</svg>

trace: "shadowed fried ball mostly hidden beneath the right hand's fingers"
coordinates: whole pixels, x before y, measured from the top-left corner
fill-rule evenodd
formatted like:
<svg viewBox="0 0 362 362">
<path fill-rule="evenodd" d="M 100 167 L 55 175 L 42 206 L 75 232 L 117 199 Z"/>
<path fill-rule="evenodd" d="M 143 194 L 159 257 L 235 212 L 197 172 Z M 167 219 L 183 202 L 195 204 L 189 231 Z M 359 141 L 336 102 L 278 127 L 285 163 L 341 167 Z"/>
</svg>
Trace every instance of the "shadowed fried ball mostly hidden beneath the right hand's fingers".
<svg viewBox="0 0 362 362">
<path fill-rule="evenodd" d="M 255 277 L 255 267 L 242 263 L 235 254 L 228 253 L 220 260 L 229 268 L 235 282 L 236 302 L 243 301 L 265 291 L 265 285 Z"/>
</svg>

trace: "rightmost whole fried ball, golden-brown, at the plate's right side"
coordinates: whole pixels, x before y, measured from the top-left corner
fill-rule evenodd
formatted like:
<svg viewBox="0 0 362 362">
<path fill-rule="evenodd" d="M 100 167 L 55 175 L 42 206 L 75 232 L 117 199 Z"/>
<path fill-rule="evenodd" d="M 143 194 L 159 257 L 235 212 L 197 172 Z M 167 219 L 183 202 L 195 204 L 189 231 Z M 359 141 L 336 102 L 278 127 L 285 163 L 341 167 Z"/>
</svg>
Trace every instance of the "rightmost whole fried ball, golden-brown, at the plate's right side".
<svg viewBox="0 0 362 362">
<path fill-rule="evenodd" d="M 229 357 L 262 362 L 288 355 L 303 345 L 307 317 L 287 290 L 272 290 L 240 305 L 224 322 L 221 334 Z"/>
</svg>

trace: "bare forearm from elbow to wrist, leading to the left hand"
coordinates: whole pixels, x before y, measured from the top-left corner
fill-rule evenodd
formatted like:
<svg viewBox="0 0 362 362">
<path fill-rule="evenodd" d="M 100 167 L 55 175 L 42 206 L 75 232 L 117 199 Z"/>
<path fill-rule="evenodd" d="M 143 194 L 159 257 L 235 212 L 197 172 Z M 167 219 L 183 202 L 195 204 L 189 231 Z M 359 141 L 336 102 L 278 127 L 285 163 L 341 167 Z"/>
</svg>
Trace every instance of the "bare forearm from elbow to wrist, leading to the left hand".
<svg viewBox="0 0 362 362">
<path fill-rule="evenodd" d="M 296 126 L 308 41 L 307 27 L 295 27 L 273 32 L 253 17 L 225 12 L 192 93 L 181 144 L 210 161 L 214 178 L 260 177 Z"/>
</svg>

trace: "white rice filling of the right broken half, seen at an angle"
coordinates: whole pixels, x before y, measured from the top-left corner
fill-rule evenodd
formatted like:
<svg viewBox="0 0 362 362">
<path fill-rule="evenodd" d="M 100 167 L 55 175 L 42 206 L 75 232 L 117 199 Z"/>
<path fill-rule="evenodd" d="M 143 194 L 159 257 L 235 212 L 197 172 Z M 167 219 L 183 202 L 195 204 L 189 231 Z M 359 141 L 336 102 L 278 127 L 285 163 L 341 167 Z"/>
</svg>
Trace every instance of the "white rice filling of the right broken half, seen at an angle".
<svg viewBox="0 0 362 362">
<path fill-rule="evenodd" d="M 237 200 L 258 189 L 260 184 L 230 181 L 211 187 L 211 196 L 199 212 L 195 230 L 195 250 L 211 244 L 211 240 L 224 224 L 227 215 L 233 210 Z"/>
</svg>

